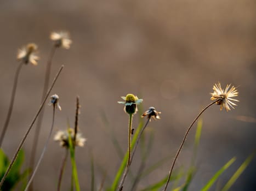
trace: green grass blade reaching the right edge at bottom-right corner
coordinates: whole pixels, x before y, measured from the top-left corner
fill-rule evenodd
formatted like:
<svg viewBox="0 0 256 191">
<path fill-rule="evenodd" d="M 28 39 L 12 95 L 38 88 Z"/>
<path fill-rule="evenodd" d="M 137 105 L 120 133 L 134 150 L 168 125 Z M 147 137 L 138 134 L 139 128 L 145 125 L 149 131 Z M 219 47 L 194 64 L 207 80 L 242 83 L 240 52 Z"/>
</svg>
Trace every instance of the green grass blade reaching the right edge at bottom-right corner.
<svg viewBox="0 0 256 191">
<path fill-rule="evenodd" d="M 237 169 L 235 174 L 230 178 L 230 180 L 226 183 L 221 191 L 229 190 L 230 187 L 236 182 L 237 178 L 243 173 L 243 171 L 247 168 L 247 166 L 251 163 L 253 157 L 255 156 L 255 152 L 249 155 L 246 160 L 242 163 L 242 165 Z"/>
</svg>

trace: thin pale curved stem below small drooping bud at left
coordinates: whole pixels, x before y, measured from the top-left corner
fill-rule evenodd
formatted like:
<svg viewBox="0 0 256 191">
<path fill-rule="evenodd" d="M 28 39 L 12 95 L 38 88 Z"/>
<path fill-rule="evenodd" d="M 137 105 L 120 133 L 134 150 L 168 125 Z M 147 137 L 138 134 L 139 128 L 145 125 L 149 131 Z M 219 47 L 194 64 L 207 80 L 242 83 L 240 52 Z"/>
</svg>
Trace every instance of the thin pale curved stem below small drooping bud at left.
<svg viewBox="0 0 256 191">
<path fill-rule="evenodd" d="M 36 168 L 35 168 L 35 170 L 33 171 L 33 174 L 31 175 L 29 182 L 27 183 L 27 186 L 26 186 L 26 188 L 25 188 L 25 191 L 27 191 L 27 189 L 29 189 L 29 186 L 30 186 L 31 182 L 32 182 L 33 178 L 34 178 L 35 175 L 36 175 L 36 171 L 37 171 L 37 169 L 38 169 L 38 167 L 39 167 L 39 165 L 40 165 L 40 163 L 41 163 L 41 161 L 42 161 L 42 159 L 43 159 L 44 153 L 45 153 L 45 151 L 46 151 L 46 149 L 47 149 L 47 146 L 48 146 L 48 143 L 49 143 L 49 140 L 50 140 L 50 136 L 51 136 L 52 133 L 53 133 L 54 118 L 55 118 L 55 108 L 56 108 L 56 107 L 55 107 L 55 104 L 53 104 L 53 121 L 52 121 L 52 126 L 50 127 L 50 133 L 49 133 L 48 138 L 47 138 L 47 140 L 46 140 L 46 142 L 45 142 L 45 144 L 44 144 L 43 151 L 42 151 L 41 156 L 40 156 L 40 158 L 39 158 L 39 160 L 38 160 L 38 162 L 37 162 Z"/>
</svg>

